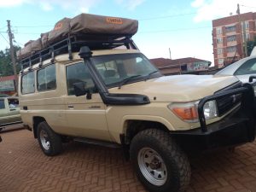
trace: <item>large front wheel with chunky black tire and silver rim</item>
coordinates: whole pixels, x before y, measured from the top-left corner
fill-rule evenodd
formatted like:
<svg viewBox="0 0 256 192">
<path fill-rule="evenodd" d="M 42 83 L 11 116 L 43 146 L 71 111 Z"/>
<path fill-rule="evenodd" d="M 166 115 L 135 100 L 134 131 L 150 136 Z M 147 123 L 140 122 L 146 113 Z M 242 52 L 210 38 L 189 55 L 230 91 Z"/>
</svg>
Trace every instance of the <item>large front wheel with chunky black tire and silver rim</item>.
<svg viewBox="0 0 256 192">
<path fill-rule="evenodd" d="M 131 141 L 130 155 L 138 179 L 149 191 L 178 192 L 189 185 L 188 157 L 166 131 L 139 132 Z"/>
</svg>

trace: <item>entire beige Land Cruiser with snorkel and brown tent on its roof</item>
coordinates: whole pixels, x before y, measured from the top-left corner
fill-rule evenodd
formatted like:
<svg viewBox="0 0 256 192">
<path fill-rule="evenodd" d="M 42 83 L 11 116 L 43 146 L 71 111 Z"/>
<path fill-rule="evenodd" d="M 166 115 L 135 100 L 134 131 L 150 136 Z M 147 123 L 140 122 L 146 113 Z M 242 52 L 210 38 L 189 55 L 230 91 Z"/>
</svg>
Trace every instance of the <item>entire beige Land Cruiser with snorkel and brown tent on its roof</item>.
<svg viewBox="0 0 256 192">
<path fill-rule="evenodd" d="M 118 146 L 149 191 L 183 191 L 190 178 L 184 151 L 254 140 L 250 84 L 165 77 L 131 40 L 137 20 L 78 17 L 61 20 L 40 49 L 30 42 L 19 55 L 21 117 L 44 154 L 61 153 L 70 139 Z M 50 38 L 64 21 L 67 36 Z"/>
</svg>

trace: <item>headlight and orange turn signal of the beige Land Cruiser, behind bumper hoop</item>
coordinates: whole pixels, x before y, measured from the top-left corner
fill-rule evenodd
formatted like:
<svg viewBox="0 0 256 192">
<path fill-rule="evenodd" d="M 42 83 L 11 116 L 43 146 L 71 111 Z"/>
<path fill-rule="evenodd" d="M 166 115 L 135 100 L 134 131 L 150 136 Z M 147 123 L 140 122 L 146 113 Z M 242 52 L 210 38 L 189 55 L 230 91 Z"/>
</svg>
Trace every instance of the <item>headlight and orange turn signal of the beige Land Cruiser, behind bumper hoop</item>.
<svg viewBox="0 0 256 192">
<path fill-rule="evenodd" d="M 198 103 L 186 102 L 186 103 L 172 103 L 168 105 L 168 108 L 177 115 L 180 119 L 187 122 L 198 122 Z M 216 101 L 206 102 L 204 105 L 204 114 L 206 119 L 212 119 L 218 116 L 218 110 Z"/>
</svg>

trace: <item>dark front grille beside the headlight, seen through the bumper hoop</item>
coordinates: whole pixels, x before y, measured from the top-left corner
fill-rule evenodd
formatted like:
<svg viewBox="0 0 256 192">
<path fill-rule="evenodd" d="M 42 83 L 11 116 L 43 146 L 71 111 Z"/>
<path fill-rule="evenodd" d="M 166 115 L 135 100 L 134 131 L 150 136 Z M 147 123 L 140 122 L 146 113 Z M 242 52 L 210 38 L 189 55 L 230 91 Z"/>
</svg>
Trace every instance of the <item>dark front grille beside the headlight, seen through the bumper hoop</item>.
<svg viewBox="0 0 256 192">
<path fill-rule="evenodd" d="M 236 107 L 241 102 L 241 94 L 235 94 L 232 96 L 224 96 L 216 100 L 218 107 L 218 116 L 224 115 L 230 111 L 230 109 Z"/>
</svg>

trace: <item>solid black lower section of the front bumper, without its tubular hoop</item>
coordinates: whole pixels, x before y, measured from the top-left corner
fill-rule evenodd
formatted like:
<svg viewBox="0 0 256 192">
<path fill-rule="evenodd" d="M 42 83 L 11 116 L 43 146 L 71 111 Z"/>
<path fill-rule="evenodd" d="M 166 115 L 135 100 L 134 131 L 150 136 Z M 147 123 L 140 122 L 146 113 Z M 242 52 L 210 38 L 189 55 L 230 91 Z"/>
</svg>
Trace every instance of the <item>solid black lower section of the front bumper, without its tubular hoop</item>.
<svg viewBox="0 0 256 192">
<path fill-rule="evenodd" d="M 235 146 L 253 142 L 255 120 L 241 108 L 236 108 L 224 119 L 207 125 L 207 131 L 196 128 L 188 131 L 170 131 L 170 134 L 188 151 Z"/>
</svg>

